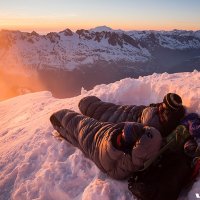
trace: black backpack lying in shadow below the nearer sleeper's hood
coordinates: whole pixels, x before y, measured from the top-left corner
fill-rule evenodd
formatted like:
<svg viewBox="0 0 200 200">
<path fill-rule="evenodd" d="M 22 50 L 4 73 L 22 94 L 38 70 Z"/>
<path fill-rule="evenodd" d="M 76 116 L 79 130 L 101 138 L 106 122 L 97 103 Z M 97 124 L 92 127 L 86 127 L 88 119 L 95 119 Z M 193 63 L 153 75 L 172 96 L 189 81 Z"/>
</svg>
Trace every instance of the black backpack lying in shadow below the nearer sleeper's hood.
<svg viewBox="0 0 200 200">
<path fill-rule="evenodd" d="M 192 175 L 191 160 L 182 151 L 167 149 L 146 170 L 128 179 L 139 200 L 176 200 Z"/>
</svg>

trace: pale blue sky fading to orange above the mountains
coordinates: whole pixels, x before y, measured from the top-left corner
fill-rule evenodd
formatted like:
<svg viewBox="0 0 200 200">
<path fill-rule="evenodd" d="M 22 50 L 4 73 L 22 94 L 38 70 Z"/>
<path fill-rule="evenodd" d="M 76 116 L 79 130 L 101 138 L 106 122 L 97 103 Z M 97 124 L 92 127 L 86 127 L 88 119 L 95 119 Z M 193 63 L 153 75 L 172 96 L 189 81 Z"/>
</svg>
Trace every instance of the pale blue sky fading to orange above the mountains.
<svg viewBox="0 0 200 200">
<path fill-rule="evenodd" d="M 0 29 L 200 30 L 200 0 L 0 0 Z"/>
</svg>

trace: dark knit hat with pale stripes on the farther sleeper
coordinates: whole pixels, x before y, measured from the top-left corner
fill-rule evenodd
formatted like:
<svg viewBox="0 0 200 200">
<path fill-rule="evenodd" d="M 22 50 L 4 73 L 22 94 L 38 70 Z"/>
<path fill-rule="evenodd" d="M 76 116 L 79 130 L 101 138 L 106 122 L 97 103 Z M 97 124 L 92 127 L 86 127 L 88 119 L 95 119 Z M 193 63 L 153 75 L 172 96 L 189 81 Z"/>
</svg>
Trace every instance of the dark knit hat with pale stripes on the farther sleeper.
<svg viewBox="0 0 200 200">
<path fill-rule="evenodd" d="M 182 99 L 179 95 L 175 93 L 168 93 L 164 96 L 163 103 L 169 108 L 170 110 L 178 110 L 182 107 Z"/>
</svg>

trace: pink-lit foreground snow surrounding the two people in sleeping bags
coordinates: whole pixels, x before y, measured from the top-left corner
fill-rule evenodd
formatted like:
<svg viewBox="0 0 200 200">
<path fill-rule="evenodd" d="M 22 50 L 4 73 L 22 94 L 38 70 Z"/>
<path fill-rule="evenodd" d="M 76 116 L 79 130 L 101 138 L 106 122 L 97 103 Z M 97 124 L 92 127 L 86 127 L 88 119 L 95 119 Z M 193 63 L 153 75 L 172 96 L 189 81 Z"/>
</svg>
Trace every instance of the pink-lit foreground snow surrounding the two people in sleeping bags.
<svg viewBox="0 0 200 200">
<path fill-rule="evenodd" d="M 0 199 L 103 199 L 129 200 L 127 181 L 102 173 L 82 152 L 61 139 L 50 124 L 50 115 L 63 108 L 78 111 L 87 95 L 120 104 L 162 101 L 168 92 L 183 98 L 188 112 L 200 114 L 200 72 L 153 74 L 126 78 L 66 99 L 43 91 L 0 102 Z M 200 176 L 185 198 L 200 193 Z"/>
</svg>

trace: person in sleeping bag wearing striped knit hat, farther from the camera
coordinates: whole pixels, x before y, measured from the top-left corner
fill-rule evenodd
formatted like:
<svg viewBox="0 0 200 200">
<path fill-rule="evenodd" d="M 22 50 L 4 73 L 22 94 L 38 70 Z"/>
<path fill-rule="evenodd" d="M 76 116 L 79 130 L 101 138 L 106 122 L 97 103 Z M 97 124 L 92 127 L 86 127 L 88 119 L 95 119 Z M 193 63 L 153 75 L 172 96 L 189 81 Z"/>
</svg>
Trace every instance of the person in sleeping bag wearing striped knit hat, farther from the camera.
<svg viewBox="0 0 200 200">
<path fill-rule="evenodd" d="M 185 115 L 182 99 L 175 93 L 164 96 L 163 102 L 149 106 L 116 105 L 103 102 L 96 96 L 80 100 L 79 110 L 83 115 L 102 122 L 139 122 L 158 129 L 163 137 L 176 128 Z"/>
</svg>

